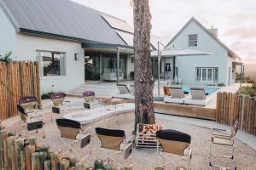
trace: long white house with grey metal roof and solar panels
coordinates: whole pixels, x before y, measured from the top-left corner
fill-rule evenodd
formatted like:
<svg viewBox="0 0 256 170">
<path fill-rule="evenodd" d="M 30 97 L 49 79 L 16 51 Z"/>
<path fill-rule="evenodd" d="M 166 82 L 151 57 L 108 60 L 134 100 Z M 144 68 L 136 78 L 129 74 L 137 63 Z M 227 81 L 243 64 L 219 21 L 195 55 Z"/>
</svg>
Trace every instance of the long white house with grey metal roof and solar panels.
<svg viewBox="0 0 256 170">
<path fill-rule="evenodd" d="M 152 36 L 152 49 L 158 39 Z M 79 3 L 0 0 L 0 55 L 12 51 L 12 59 L 38 61 L 42 93 L 113 80 L 118 65 L 119 78 L 131 79 L 132 46 L 133 29 L 125 20 Z"/>
</svg>

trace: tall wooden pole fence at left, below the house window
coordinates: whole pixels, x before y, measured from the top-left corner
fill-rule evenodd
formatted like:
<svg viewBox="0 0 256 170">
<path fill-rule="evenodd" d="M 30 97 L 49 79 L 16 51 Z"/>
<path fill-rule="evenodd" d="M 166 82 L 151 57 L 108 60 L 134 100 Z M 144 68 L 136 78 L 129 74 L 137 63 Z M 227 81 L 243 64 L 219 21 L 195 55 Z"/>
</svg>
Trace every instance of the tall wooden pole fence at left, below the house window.
<svg viewBox="0 0 256 170">
<path fill-rule="evenodd" d="M 0 62 L 0 119 L 18 114 L 21 96 L 33 95 L 41 103 L 40 75 L 37 62 Z"/>
</svg>

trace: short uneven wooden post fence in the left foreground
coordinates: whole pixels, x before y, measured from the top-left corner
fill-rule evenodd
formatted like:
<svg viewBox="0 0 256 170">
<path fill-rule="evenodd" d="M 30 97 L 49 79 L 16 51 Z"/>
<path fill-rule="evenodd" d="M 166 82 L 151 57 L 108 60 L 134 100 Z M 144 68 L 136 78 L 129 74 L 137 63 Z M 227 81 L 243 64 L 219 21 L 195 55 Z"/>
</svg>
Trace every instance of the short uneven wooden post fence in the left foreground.
<svg viewBox="0 0 256 170">
<path fill-rule="evenodd" d="M 1 170 L 85 170 L 86 161 L 63 156 L 62 151 L 49 151 L 49 145 L 39 145 L 37 137 L 18 137 L 0 127 Z"/>
</svg>

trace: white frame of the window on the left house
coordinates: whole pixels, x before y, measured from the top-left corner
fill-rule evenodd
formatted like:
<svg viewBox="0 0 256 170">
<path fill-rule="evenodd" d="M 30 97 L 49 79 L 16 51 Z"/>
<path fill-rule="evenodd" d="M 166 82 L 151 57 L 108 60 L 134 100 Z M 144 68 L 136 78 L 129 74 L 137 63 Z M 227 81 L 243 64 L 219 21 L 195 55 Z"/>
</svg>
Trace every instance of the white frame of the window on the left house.
<svg viewBox="0 0 256 170">
<path fill-rule="evenodd" d="M 48 53 L 59 53 L 60 54 L 60 75 L 49 75 L 49 76 L 44 76 L 44 63 L 43 63 L 43 58 L 41 56 L 41 52 L 48 52 Z M 65 52 L 59 52 L 59 51 L 48 51 L 48 50 L 36 50 L 37 58 L 38 58 L 38 63 L 40 65 L 40 75 L 41 77 L 65 77 L 67 73 L 67 57 Z"/>
</svg>

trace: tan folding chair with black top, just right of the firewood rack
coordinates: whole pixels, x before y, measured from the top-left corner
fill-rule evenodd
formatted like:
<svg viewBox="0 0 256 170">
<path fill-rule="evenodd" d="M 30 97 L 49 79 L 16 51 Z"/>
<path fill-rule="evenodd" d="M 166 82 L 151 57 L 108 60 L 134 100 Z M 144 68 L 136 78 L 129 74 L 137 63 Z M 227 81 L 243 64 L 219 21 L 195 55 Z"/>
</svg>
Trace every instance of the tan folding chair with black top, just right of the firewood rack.
<svg viewBox="0 0 256 170">
<path fill-rule="evenodd" d="M 192 146 L 191 146 L 191 137 L 186 133 L 181 133 L 175 130 L 166 129 L 160 130 L 156 133 L 156 138 L 158 139 L 157 143 L 157 151 L 160 156 L 164 157 L 164 162 L 161 167 L 165 167 L 168 164 L 172 164 L 177 169 L 179 166 L 177 165 L 177 161 L 188 161 L 188 169 L 190 169 L 190 161 L 192 158 Z M 163 152 L 171 153 L 174 155 L 181 156 L 178 160 L 166 161 L 170 156 L 164 155 Z"/>
</svg>

